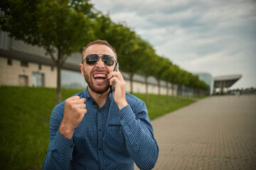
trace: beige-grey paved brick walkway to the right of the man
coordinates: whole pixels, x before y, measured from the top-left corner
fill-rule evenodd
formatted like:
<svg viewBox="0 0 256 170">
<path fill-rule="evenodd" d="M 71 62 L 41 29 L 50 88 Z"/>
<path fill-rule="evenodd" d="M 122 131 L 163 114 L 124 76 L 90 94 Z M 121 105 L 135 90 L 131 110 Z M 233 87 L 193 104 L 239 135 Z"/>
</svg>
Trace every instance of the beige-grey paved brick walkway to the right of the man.
<svg viewBox="0 0 256 170">
<path fill-rule="evenodd" d="M 151 123 L 154 169 L 256 169 L 256 96 L 208 97 Z"/>
</svg>

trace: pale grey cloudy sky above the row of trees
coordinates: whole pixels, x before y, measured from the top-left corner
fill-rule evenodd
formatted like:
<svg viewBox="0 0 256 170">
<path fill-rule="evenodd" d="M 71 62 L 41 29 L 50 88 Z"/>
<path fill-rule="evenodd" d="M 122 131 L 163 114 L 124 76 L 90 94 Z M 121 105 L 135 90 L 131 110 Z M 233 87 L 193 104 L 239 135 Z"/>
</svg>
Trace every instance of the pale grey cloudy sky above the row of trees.
<svg viewBox="0 0 256 170">
<path fill-rule="evenodd" d="M 256 87 L 255 0 L 91 0 L 114 22 L 126 22 L 188 72 L 242 74 L 232 89 Z"/>
</svg>

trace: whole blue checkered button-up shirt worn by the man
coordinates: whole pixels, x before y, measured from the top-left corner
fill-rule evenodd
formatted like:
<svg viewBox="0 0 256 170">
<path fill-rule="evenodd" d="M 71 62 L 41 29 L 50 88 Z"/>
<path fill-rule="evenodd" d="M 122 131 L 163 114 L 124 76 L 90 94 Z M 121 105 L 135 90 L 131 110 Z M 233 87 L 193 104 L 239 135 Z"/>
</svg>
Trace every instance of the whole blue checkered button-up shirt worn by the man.
<svg viewBox="0 0 256 170">
<path fill-rule="evenodd" d="M 119 110 L 113 94 L 99 108 L 87 89 L 76 94 L 85 98 L 87 113 L 71 140 L 58 128 L 65 101 L 53 108 L 50 139 L 43 169 L 152 169 L 159 155 L 146 106 L 127 94 L 128 106 Z"/>
</svg>

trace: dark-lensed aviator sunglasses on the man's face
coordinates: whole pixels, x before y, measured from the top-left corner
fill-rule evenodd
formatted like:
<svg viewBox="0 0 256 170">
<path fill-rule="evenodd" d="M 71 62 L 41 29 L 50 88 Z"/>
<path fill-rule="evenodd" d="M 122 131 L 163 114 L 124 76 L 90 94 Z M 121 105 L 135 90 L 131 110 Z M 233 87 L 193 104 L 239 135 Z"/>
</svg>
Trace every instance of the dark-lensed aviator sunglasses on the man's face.
<svg viewBox="0 0 256 170">
<path fill-rule="evenodd" d="M 112 57 L 111 55 L 102 55 L 101 58 L 102 58 L 102 62 L 104 62 L 108 66 L 112 66 L 114 62 L 116 62 L 114 60 L 114 57 Z M 87 55 L 83 60 L 83 62 L 85 61 L 86 64 L 93 65 L 99 60 L 100 60 L 100 55 L 92 54 L 92 55 Z"/>
</svg>

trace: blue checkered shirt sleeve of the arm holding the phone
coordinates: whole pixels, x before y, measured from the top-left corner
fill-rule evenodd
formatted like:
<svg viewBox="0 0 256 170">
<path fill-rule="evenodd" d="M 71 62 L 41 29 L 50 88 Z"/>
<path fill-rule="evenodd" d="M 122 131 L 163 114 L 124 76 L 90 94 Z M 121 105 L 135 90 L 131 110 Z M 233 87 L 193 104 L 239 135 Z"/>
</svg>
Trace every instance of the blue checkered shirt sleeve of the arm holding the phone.
<svg viewBox="0 0 256 170">
<path fill-rule="evenodd" d="M 134 109 L 126 106 L 119 111 L 127 149 L 139 169 L 153 169 L 159 155 L 159 147 L 143 101 Z"/>
</svg>

